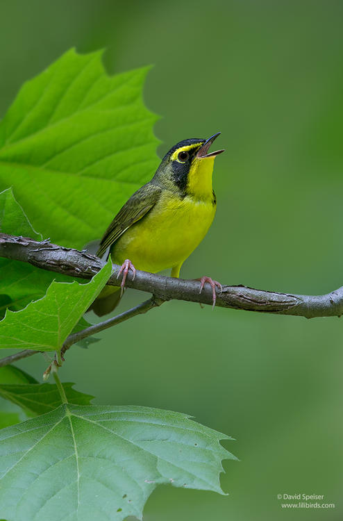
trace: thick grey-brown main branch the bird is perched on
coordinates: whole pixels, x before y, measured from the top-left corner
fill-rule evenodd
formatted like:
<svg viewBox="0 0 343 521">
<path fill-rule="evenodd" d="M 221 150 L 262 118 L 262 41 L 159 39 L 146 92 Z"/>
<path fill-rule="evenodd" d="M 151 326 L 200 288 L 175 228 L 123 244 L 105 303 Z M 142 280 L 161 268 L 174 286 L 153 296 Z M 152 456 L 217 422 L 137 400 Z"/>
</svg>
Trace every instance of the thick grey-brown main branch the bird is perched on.
<svg viewBox="0 0 343 521">
<path fill-rule="evenodd" d="M 38 242 L 6 233 L 0 233 L 0 256 L 82 279 L 90 279 L 103 266 L 103 262 L 97 256 L 85 250 L 78 251 L 54 245 L 47 240 Z M 108 285 L 119 286 L 118 272 L 119 266 L 113 265 Z M 134 280 L 131 274 L 128 275 L 126 286 L 152 293 L 157 299 L 178 299 L 212 305 L 210 288 L 206 285 L 199 295 L 198 281 L 185 281 L 137 271 Z M 292 295 L 255 290 L 246 286 L 223 286 L 223 291 L 217 294 L 216 306 L 306 318 L 340 317 L 343 314 L 343 287 L 327 295 Z"/>
</svg>

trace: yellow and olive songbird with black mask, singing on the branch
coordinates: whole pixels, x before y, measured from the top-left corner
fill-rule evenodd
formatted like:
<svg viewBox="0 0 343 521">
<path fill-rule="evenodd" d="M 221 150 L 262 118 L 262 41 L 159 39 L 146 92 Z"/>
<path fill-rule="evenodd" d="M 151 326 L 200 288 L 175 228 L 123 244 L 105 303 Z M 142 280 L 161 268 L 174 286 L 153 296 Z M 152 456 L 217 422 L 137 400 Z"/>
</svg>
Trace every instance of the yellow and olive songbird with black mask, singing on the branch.
<svg viewBox="0 0 343 521">
<path fill-rule="evenodd" d="M 209 152 L 220 132 L 208 139 L 190 138 L 171 147 L 151 181 L 137 190 L 106 229 L 97 256 L 120 265 L 121 286 L 106 286 L 93 302 L 98 316 L 110 313 L 121 299 L 128 272 L 157 273 L 171 269 L 178 277 L 184 261 L 205 237 L 215 217 L 217 199 L 212 188 L 215 158 L 224 149 Z M 199 292 L 206 283 L 222 287 L 208 276 L 197 279 Z"/>
</svg>

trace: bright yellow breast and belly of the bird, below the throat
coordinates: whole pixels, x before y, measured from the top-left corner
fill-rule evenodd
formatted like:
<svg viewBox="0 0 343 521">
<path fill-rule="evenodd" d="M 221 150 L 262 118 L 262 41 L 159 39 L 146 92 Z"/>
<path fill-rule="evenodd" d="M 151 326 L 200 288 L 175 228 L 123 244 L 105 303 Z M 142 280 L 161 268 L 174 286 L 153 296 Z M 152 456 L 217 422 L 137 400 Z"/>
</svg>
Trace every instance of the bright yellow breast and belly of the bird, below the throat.
<svg viewBox="0 0 343 521">
<path fill-rule="evenodd" d="M 153 273 L 181 265 L 203 240 L 213 217 L 212 201 L 162 198 L 117 240 L 112 261 L 122 264 L 129 258 L 138 270 Z"/>
</svg>

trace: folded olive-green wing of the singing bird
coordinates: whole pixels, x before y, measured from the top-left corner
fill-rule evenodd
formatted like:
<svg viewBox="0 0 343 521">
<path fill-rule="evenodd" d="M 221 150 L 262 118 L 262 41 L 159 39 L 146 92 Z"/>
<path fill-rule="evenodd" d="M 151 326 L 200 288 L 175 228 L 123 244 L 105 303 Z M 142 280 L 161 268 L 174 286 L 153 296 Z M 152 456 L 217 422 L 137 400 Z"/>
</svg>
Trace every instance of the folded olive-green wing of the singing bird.
<svg viewBox="0 0 343 521">
<path fill-rule="evenodd" d="M 98 257 L 102 257 L 108 247 L 112 246 L 130 226 L 142 219 L 156 205 L 161 191 L 157 185 L 147 183 L 131 195 L 104 233 L 97 252 Z"/>
</svg>

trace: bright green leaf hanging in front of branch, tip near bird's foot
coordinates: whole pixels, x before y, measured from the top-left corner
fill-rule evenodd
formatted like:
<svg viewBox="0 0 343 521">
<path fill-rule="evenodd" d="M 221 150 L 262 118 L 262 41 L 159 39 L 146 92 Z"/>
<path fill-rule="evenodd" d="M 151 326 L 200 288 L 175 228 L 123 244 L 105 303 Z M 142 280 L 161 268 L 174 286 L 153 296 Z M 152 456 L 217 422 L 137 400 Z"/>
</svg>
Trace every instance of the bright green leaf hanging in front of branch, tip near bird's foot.
<svg viewBox="0 0 343 521">
<path fill-rule="evenodd" d="M 83 313 L 110 278 L 112 261 L 87 284 L 53 282 L 47 295 L 22 311 L 6 311 L 0 322 L 0 348 L 60 350 Z"/>
</svg>

